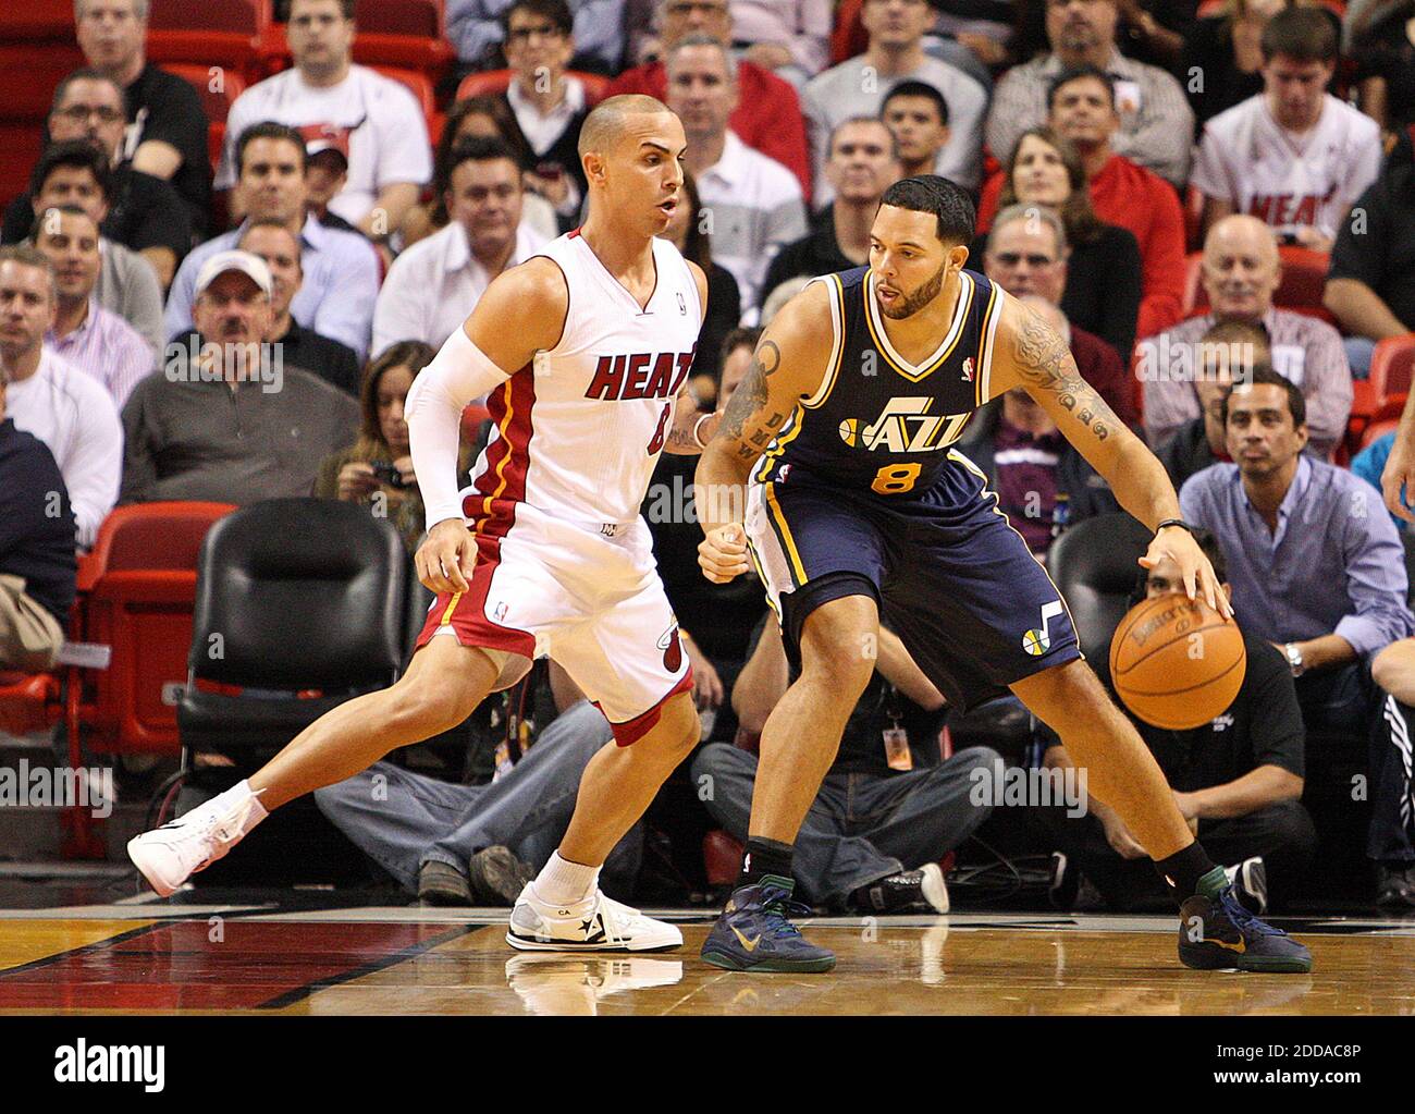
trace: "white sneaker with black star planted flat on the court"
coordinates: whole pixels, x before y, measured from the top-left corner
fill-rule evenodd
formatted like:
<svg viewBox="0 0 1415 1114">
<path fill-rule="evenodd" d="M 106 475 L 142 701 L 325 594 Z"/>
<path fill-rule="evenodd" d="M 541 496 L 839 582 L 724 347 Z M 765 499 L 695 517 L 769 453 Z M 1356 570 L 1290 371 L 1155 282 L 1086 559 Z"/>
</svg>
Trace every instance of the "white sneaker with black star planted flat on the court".
<svg viewBox="0 0 1415 1114">
<path fill-rule="evenodd" d="M 507 943 L 521 951 L 666 951 L 682 947 L 672 924 L 606 897 L 596 886 L 567 906 L 548 905 L 529 883 L 511 910 Z"/>
</svg>

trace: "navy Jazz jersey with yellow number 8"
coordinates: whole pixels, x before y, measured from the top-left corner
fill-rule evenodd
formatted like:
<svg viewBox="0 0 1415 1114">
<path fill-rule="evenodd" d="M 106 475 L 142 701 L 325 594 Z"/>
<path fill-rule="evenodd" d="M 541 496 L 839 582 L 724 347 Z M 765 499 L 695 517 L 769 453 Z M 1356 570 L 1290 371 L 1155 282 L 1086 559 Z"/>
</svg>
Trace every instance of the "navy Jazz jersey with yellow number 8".
<svg viewBox="0 0 1415 1114">
<path fill-rule="evenodd" d="M 938 347 L 910 364 L 890 344 L 869 268 L 812 282 L 831 292 L 833 344 L 825 378 L 798 403 L 754 470 L 758 483 L 802 470 L 880 495 L 923 491 L 988 401 L 993 335 L 1006 294 L 959 272 L 958 304 Z"/>
</svg>

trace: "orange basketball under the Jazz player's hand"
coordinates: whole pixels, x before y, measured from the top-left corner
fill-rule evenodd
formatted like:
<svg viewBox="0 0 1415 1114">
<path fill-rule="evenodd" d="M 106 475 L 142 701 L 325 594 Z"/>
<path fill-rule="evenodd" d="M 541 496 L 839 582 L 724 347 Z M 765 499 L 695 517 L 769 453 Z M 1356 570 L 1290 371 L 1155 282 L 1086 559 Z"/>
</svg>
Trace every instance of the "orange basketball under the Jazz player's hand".
<svg viewBox="0 0 1415 1114">
<path fill-rule="evenodd" d="M 1184 596 L 1135 604 L 1111 640 L 1115 691 L 1136 716 L 1167 730 L 1223 715 L 1247 671 L 1238 624 Z"/>
</svg>

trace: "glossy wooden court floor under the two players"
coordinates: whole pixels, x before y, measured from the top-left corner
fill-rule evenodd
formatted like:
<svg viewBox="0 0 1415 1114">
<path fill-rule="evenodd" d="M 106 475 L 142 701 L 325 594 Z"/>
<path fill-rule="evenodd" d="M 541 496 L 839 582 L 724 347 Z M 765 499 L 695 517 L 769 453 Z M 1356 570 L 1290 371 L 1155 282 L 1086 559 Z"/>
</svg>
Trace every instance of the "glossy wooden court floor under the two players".
<svg viewBox="0 0 1415 1114">
<path fill-rule="evenodd" d="M 645 957 L 516 953 L 504 910 L 161 902 L 0 910 L 0 1013 L 1415 1015 L 1415 921 L 1283 923 L 1310 975 L 1200 972 L 1173 919 L 818 919 L 828 975 L 741 975 L 685 946 Z M 1281 923 L 1281 921 L 1279 921 Z"/>
</svg>

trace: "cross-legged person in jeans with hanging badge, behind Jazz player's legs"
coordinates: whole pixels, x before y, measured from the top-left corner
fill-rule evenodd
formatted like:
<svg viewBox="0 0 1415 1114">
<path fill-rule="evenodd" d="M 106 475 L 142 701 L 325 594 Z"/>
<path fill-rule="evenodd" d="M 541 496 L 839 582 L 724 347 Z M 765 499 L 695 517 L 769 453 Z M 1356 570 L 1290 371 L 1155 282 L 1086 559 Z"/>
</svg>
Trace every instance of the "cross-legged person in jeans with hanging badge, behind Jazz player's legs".
<svg viewBox="0 0 1415 1114">
<path fill-rule="evenodd" d="M 944 696 L 884 627 L 877 650 L 876 672 L 797 838 L 798 893 L 860 913 L 947 913 L 938 859 L 990 815 L 990 805 L 969 800 L 972 773 L 1002 759 L 979 746 L 940 760 Z M 710 743 L 692 764 L 699 798 L 739 841 L 751 815 L 757 740 L 788 682 L 781 628 L 768 616 L 732 691 L 737 745 Z"/>
</svg>

